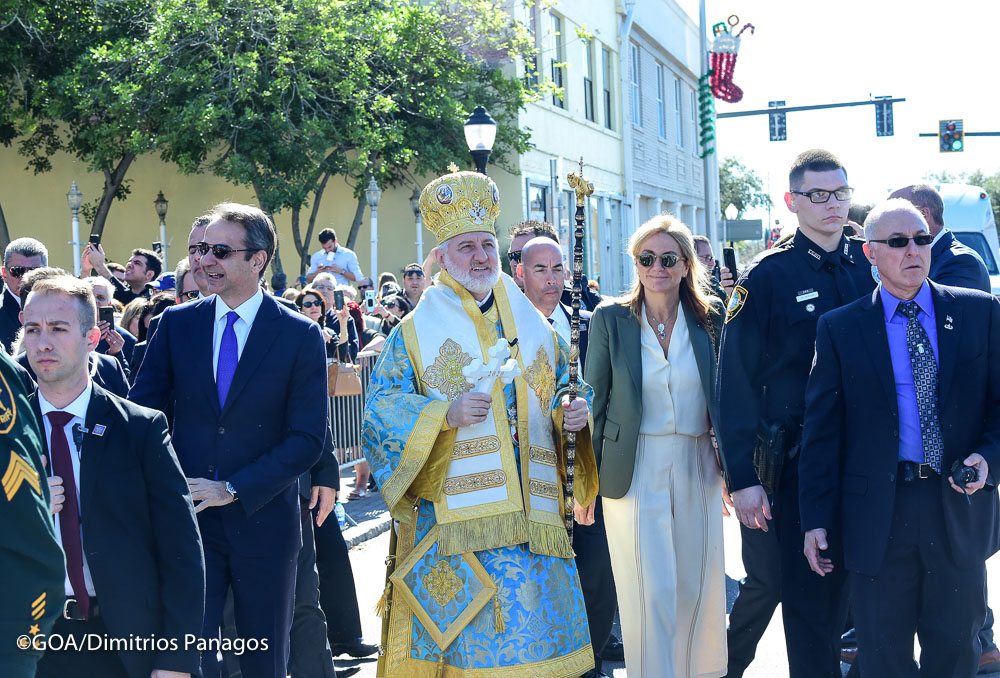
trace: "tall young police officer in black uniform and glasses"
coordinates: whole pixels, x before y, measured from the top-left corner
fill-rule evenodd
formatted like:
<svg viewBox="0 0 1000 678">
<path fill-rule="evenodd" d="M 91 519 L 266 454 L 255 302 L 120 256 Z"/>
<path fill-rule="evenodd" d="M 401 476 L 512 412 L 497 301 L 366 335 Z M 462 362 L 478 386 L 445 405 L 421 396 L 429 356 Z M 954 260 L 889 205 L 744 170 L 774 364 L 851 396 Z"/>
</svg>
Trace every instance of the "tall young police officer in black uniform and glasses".
<svg viewBox="0 0 1000 678">
<path fill-rule="evenodd" d="M 730 298 L 719 359 L 724 417 L 717 434 L 737 518 L 750 529 L 774 529 L 777 537 L 790 678 L 840 678 L 844 568 L 820 577 L 802 554 L 797 453 L 816 321 L 870 294 L 875 281 L 862 241 L 843 231 L 852 189 L 840 161 L 827 151 L 806 151 L 792 164 L 789 186 L 785 203 L 798 218 L 798 230 L 759 255 Z M 767 548 L 766 541 L 758 543 Z M 839 562 L 835 533 L 824 555 Z M 766 553 L 760 561 L 767 562 Z M 745 564 L 749 578 L 754 563 L 745 558 Z M 773 579 L 774 573 L 767 574 Z M 769 617 L 773 607 L 764 604 L 761 611 Z M 741 675 L 745 667 L 733 668 L 730 675 Z"/>
</svg>

